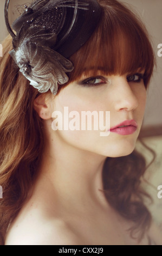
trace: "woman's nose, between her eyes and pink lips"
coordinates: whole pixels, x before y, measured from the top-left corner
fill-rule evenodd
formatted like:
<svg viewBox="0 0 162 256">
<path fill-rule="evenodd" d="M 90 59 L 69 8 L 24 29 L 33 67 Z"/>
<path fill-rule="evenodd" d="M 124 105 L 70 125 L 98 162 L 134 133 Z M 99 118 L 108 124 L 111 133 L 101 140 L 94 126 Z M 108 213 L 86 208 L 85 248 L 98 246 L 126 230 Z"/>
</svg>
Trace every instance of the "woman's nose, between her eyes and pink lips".
<svg viewBox="0 0 162 256">
<path fill-rule="evenodd" d="M 126 77 L 116 77 L 113 81 L 115 88 L 115 110 L 133 111 L 138 107 L 136 90 L 127 82 Z"/>
</svg>

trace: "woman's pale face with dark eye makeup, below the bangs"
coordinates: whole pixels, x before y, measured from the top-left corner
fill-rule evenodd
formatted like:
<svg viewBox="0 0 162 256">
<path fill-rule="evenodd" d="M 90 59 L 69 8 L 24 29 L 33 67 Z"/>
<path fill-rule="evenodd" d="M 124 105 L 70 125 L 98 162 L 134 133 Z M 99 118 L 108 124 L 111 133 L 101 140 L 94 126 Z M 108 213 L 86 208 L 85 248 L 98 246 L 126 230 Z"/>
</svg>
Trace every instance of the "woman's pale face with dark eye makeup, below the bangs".
<svg viewBox="0 0 162 256">
<path fill-rule="evenodd" d="M 56 130 L 56 120 L 60 119 L 58 119 L 59 116 L 55 119 L 56 115 L 53 113 L 53 129 L 51 129 L 53 136 L 59 136 L 64 143 L 77 149 L 103 156 L 118 157 L 131 154 L 144 117 L 146 89 L 142 78 L 143 74 L 144 72 L 137 71 L 134 74 L 123 76 L 103 76 L 98 71 L 98 74 L 92 77 L 89 72 L 89 76 L 82 75 L 78 81 L 70 83 L 60 91 L 53 101 L 52 111 L 61 112 L 63 117 L 62 130 Z M 68 113 L 72 111 L 75 112 L 71 113 L 68 118 Z M 93 119 L 92 129 L 83 130 L 84 111 L 89 111 L 89 113 L 95 111 L 98 118 L 100 113 L 103 113 L 103 118 L 101 116 L 100 120 L 98 119 L 98 130 L 94 130 Z M 64 117 L 64 112 L 66 117 Z M 106 124 L 106 113 L 108 120 L 108 112 L 110 123 L 108 121 L 109 125 L 105 131 L 101 131 L 102 121 L 104 120 Z M 131 120 L 131 123 L 122 123 L 128 120 Z M 95 121 L 97 122 L 96 119 Z M 65 123 L 66 130 L 64 130 Z M 127 127 L 112 130 L 116 126 Z M 73 128 L 78 130 L 73 130 Z M 101 132 L 103 132 L 102 136 Z"/>
</svg>

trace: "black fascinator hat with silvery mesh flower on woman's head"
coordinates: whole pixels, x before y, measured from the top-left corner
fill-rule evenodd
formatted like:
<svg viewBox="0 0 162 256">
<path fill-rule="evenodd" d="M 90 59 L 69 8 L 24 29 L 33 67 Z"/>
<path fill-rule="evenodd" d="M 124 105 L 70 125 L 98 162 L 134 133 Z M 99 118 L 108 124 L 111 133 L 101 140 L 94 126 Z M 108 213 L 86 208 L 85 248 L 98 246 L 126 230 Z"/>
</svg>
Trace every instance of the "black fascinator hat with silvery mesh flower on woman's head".
<svg viewBox="0 0 162 256">
<path fill-rule="evenodd" d="M 58 84 L 68 82 L 73 70 L 67 59 L 85 44 L 100 21 L 97 0 L 35 0 L 12 23 L 8 20 L 10 0 L 5 1 L 5 22 L 12 36 L 15 60 L 30 84 L 55 95 Z M 15 34 L 15 32 L 16 34 Z"/>
</svg>

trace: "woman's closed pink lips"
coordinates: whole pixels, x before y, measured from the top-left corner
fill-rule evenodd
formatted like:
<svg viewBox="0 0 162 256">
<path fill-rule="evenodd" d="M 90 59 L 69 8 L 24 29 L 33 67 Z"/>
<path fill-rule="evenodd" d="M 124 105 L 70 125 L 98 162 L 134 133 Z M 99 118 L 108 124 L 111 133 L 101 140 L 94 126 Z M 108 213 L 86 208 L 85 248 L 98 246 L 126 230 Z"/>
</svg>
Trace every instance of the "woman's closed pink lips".
<svg viewBox="0 0 162 256">
<path fill-rule="evenodd" d="M 124 127 L 121 127 L 124 126 Z M 126 120 L 110 129 L 111 132 L 116 132 L 120 135 L 130 135 L 137 130 L 137 123 L 134 120 Z"/>
</svg>

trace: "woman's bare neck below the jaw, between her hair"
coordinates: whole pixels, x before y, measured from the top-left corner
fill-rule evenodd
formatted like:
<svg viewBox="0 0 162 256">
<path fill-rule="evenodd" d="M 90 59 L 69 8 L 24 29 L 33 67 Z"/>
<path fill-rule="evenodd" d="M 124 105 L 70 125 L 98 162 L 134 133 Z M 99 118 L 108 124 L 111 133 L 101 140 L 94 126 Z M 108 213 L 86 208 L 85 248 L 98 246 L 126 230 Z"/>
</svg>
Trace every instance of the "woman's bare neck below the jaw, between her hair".
<svg viewBox="0 0 162 256">
<path fill-rule="evenodd" d="M 55 143 L 53 143 L 55 141 Z M 92 203 L 107 205 L 102 186 L 102 168 L 106 157 L 74 148 L 59 137 L 48 139 L 40 173 L 59 202 L 69 208 Z M 86 205 L 85 205 L 86 206 Z"/>
</svg>

